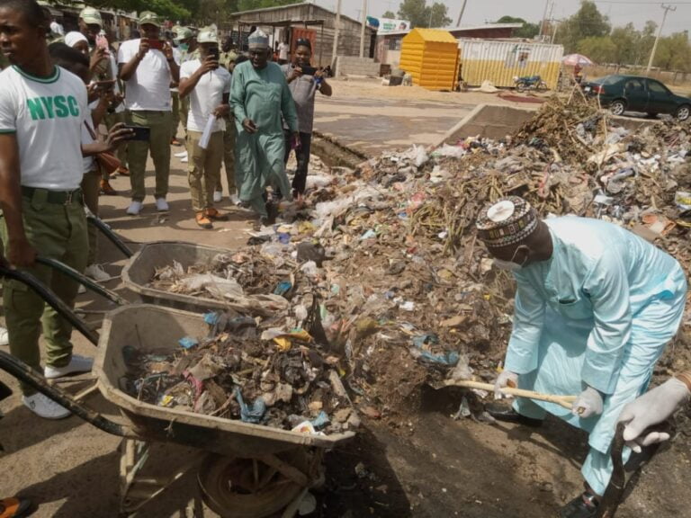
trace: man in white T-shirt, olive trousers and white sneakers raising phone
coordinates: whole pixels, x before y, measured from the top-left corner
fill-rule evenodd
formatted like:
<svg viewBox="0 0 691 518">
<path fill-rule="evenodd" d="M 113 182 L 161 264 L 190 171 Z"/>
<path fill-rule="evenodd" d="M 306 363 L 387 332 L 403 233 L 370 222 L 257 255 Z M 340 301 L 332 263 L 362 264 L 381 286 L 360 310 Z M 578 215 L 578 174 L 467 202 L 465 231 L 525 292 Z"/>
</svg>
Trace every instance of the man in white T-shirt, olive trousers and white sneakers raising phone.
<svg viewBox="0 0 691 518">
<path fill-rule="evenodd" d="M 180 80 L 180 67 L 173 48 L 161 40 L 161 22 L 156 13 L 144 11 L 139 16 L 141 38 L 124 41 L 118 51 L 119 77 L 126 85 L 125 118 L 128 125 L 149 130 L 148 141 L 128 143 L 128 165 L 132 201 L 127 213 L 138 216 L 146 189 L 144 176 L 150 152 L 156 169 L 156 209 L 168 210 L 166 195 L 170 176 L 170 128 L 172 105 L 170 84 Z"/>
</svg>

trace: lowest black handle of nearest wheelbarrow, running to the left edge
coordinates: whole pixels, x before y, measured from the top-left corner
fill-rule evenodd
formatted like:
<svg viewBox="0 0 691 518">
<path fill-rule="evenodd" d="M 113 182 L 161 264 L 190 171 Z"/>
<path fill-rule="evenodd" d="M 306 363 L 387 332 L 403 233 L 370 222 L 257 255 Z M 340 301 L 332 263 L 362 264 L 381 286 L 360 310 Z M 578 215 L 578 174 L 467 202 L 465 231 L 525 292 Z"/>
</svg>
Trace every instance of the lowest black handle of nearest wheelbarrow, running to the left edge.
<svg viewBox="0 0 691 518">
<path fill-rule="evenodd" d="M 59 405 L 65 406 L 67 410 L 84 419 L 87 423 L 93 424 L 96 428 L 103 430 L 103 432 L 112 433 L 120 437 L 133 436 L 133 433 L 128 427 L 106 419 L 103 415 L 94 412 L 94 410 L 88 406 L 81 405 L 72 397 L 67 396 L 64 390 L 49 385 L 39 372 L 34 371 L 29 365 L 15 358 L 12 354 L 0 351 L 0 369 L 17 380 L 21 380 L 30 387 L 35 388 L 41 394 L 49 397 Z"/>
</svg>

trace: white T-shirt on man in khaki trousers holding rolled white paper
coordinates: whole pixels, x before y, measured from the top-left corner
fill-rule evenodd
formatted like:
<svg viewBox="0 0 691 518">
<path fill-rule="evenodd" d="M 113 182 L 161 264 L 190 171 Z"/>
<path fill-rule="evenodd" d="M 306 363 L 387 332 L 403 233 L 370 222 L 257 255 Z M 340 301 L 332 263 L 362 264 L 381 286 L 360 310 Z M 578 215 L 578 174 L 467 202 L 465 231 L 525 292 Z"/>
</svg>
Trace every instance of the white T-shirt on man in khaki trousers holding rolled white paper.
<svg viewBox="0 0 691 518">
<path fill-rule="evenodd" d="M 202 61 L 193 59 L 185 61 L 180 67 L 180 79 L 188 79 L 194 72 L 202 67 Z M 225 67 L 218 67 L 202 76 L 199 83 L 190 94 L 190 111 L 187 116 L 187 130 L 204 130 L 206 121 L 213 111 L 223 103 L 223 94 L 230 94 L 230 72 Z M 213 131 L 224 131 L 226 123 L 223 119 L 217 119 Z"/>
</svg>

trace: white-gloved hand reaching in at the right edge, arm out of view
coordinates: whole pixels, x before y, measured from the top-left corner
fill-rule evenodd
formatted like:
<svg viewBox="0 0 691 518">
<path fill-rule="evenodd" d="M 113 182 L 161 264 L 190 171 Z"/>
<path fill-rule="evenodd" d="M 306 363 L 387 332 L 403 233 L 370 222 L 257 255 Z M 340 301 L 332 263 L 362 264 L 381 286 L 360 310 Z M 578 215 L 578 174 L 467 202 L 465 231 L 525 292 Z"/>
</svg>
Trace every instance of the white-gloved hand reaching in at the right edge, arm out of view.
<svg viewBox="0 0 691 518">
<path fill-rule="evenodd" d="M 649 390 L 641 397 L 624 406 L 617 423 L 626 423 L 624 441 L 636 453 L 641 452 L 642 446 L 669 439 L 669 433 L 642 433 L 653 424 L 665 421 L 674 414 L 677 408 L 686 403 L 691 397 L 686 383 L 670 378 L 660 387 Z"/>
</svg>

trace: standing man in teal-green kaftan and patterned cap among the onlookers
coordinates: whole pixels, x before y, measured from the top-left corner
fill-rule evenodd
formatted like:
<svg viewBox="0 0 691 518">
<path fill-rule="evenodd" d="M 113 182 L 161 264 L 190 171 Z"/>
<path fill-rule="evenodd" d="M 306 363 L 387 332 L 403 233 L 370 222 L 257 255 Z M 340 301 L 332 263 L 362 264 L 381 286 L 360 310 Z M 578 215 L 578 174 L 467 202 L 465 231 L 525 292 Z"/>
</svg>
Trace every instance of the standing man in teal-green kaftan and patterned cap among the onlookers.
<svg viewBox="0 0 691 518">
<path fill-rule="evenodd" d="M 298 134 L 298 116 L 281 67 L 269 62 L 268 36 L 254 31 L 249 37 L 249 60 L 233 71 L 230 106 L 238 129 L 236 184 L 239 198 L 265 221 L 265 187 L 278 188 L 286 201 L 292 200 L 285 173 L 282 116 L 288 128 Z"/>
</svg>

